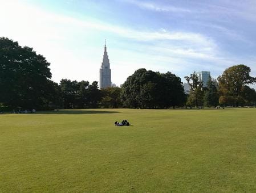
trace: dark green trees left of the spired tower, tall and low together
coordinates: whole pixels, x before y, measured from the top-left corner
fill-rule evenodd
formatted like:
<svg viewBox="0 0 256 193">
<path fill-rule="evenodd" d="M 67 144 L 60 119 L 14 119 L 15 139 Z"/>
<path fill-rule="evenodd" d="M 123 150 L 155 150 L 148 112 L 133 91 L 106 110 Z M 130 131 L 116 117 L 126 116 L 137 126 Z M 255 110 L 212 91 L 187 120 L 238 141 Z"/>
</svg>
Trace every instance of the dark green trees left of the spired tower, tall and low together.
<svg viewBox="0 0 256 193">
<path fill-rule="evenodd" d="M 0 38 L 0 104 L 8 109 L 97 108 L 97 82 L 50 80 L 50 63 L 29 47 Z"/>
</svg>

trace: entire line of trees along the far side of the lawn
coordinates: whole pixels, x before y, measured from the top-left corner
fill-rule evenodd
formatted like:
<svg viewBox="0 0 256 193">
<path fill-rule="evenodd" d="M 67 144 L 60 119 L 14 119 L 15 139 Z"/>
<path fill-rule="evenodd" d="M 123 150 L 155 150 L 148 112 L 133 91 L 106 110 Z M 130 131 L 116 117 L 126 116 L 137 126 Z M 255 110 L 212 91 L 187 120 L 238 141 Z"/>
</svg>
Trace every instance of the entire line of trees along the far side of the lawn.
<svg viewBox="0 0 256 193">
<path fill-rule="evenodd" d="M 53 108 L 170 108 L 253 106 L 256 82 L 246 65 L 226 69 L 207 86 L 196 73 L 185 77 L 190 92 L 185 94 L 180 77 L 138 69 L 121 87 L 99 90 L 98 83 L 62 79 L 51 81 L 50 63 L 30 47 L 0 37 L 0 108 L 49 110 Z"/>
</svg>

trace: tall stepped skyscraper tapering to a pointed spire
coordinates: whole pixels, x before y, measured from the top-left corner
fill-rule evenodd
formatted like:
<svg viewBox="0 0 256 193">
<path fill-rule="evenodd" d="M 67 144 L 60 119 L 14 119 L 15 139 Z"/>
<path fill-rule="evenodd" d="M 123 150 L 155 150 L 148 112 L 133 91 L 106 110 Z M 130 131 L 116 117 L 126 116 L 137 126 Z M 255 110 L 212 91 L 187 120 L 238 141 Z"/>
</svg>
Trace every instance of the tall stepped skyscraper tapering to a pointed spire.
<svg viewBox="0 0 256 193">
<path fill-rule="evenodd" d="M 104 89 L 107 87 L 111 87 L 111 69 L 105 41 L 104 56 L 100 67 L 100 89 Z"/>
</svg>

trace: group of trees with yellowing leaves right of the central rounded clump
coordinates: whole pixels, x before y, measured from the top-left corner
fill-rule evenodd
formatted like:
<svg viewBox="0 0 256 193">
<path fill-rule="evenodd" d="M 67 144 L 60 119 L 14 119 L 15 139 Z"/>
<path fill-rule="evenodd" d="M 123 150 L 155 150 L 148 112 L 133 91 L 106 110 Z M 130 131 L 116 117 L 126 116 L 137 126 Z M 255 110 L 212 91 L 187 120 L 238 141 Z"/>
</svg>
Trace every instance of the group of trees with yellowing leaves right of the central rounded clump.
<svg viewBox="0 0 256 193">
<path fill-rule="evenodd" d="M 213 81 L 211 77 L 206 87 L 194 72 L 185 77 L 189 84 L 190 92 L 187 106 L 216 107 L 221 106 L 255 106 L 256 91 L 249 84 L 256 82 L 250 76 L 251 69 L 243 64 L 227 68 L 222 75 Z"/>
</svg>

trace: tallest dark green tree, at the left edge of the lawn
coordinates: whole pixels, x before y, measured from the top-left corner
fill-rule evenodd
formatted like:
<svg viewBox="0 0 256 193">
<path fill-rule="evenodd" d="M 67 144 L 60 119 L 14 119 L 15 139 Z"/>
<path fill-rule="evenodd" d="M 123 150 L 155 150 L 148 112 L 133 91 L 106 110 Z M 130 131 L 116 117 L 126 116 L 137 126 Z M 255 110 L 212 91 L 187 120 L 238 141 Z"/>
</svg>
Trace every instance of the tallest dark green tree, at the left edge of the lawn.
<svg viewBox="0 0 256 193">
<path fill-rule="evenodd" d="M 32 48 L 0 37 L 0 103 L 12 108 L 40 108 L 47 102 L 50 63 Z"/>
</svg>

